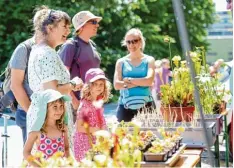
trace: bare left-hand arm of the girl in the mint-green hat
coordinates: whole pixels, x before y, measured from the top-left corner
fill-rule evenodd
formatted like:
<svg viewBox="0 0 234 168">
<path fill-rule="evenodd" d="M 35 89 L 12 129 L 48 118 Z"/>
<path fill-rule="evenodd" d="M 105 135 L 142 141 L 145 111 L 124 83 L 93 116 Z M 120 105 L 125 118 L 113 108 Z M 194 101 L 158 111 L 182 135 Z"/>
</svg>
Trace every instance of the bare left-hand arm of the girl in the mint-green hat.
<svg viewBox="0 0 234 168">
<path fill-rule="evenodd" d="M 30 159 L 30 156 L 32 156 L 31 151 L 32 151 L 33 145 L 37 141 L 37 139 L 38 139 L 38 132 L 37 131 L 30 132 L 28 134 L 28 139 L 24 145 L 24 150 L 23 150 L 24 159 L 27 160 L 28 163 L 33 167 L 40 166 L 36 164 L 32 159 Z"/>
</svg>

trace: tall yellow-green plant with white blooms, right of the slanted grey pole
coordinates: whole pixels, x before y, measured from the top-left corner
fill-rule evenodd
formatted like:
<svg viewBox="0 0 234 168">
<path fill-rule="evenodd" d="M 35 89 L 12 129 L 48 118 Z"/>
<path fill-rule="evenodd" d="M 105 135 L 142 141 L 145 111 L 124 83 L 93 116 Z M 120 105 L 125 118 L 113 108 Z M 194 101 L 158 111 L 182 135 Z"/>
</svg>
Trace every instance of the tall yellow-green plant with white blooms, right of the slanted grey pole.
<svg viewBox="0 0 234 168">
<path fill-rule="evenodd" d="M 216 75 L 211 76 L 208 66 L 205 64 L 204 47 L 196 47 L 196 52 L 190 56 L 194 62 L 197 62 L 195 64 L 197 86 L 204 113 L 219 114 L 223 112 L 226 109 L 226 101 L 230 97 L 230 91 L 227 91 L 220 82 L 221 74 L 216 73 Z"/>
</svg>

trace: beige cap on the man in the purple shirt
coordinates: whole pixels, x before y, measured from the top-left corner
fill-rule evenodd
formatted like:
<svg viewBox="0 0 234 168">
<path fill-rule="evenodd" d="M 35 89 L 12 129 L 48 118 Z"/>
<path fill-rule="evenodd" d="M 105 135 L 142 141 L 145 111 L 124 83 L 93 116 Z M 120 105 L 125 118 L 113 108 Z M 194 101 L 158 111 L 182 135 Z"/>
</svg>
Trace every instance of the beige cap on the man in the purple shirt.
<svg viewBox="0 0 234 168">
<path fill-rule="evenodd" d="M 73 18 L 72 18 L 72 24 L 75 28 L 75 30 L 79 30 L 86 22 L 88 22 L 91 19 L 97 19 L 98 22 L 102 20 L 102 17 L 95 16 L 90 11 L 81 11 L 78 12 Z"/>
</svg>

